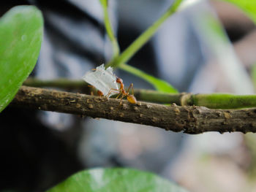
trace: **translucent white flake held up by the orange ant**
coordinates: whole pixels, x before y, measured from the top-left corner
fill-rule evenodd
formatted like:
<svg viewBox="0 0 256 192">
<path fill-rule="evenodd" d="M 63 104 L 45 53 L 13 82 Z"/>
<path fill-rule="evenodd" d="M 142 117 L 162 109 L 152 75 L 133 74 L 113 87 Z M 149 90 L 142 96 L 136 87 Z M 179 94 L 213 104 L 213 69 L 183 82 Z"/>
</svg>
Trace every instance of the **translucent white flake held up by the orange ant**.
<svg viewBox="0 0 256 192">
<path fill-rule="evenodd" d="M 112 96 L 113 94 L 116 94 L 116 92 L 112 91 L 110 93 L 110 90 L 118 89 L 116 75 L 113 74 L 112 67 L 105 69 L 104 64 L 97 66 L 95 71 L 87 72 L 82 78 L 84 81 L 101 91 L 104 96 Z M 110 94 L 108 95 L 108 93 Z"/>
</svg>

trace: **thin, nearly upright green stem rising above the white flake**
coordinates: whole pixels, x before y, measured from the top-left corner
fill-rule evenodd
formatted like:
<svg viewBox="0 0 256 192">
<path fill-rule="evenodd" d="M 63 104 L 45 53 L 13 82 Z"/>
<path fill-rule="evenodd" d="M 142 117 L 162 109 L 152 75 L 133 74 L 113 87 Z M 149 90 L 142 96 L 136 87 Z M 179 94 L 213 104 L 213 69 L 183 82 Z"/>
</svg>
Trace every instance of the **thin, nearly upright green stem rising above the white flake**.
<svg viewBox="0 0 256 192">
<path fill-rule="evenodd" d="M 110 18 L 108 15 L 108 1 L 101 1 L 103 12 L 104 12 L 104 23 L 105 23 L 105 28 L 108 34 L 108 37 L 110 39 L 110 42 L 113 47 L 113 58 L 118 57 L 120 50 L 119 50 L 119 45 L 116 40 L 116 37 L 113 33 L 113 28 L 111 26 Z"/>
</svg>

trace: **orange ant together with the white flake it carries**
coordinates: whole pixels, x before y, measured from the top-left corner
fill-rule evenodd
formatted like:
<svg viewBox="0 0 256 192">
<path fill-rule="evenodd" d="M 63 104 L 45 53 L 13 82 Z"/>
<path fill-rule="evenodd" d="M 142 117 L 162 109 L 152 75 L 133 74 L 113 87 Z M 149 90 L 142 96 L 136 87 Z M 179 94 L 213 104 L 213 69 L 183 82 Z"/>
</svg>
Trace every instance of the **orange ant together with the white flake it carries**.
<svg viewBox="0 0 256 192">
<path fill-rule="evenodd" d="M 118 93 L 116 99 L 118 99 L 120 96 L 120 99 L 123 99 L 125 96 L 127 96 L 127 100 L 130 103 L 137 103 L 137 100 L 133 95 L 133 84 L 129 85 L 128 90 L 125 91 L 123 80 L 113 74 L 112 67 L 108 67 L 108 69 L 105 69 L 104 64 L 102 64 L 101 66 L 98 66 L 96 69 L 94 69 L 92 72 L 87 72 L 85 75 L 83 75 L 82 78 L 83 80 L 98 89 L 99 96 L 110 97 Z M 130 88 L 132 88 L 132 94 L 129 93 Z"/>
</svg>

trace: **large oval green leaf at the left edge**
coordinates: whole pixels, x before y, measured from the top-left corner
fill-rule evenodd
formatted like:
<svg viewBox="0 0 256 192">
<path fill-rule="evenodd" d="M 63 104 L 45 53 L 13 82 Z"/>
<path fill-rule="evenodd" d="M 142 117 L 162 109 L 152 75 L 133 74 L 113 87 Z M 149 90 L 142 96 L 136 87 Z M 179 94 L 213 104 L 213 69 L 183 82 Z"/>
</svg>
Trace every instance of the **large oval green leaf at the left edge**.
<svg viewBox="0 0 256 192">
<path fill-rule="evenodd" d="M 33 6 L 14 7 L 0 19 L 0 112 L 34 69 L 42 26 L 42 14 Z"/>
</svg>

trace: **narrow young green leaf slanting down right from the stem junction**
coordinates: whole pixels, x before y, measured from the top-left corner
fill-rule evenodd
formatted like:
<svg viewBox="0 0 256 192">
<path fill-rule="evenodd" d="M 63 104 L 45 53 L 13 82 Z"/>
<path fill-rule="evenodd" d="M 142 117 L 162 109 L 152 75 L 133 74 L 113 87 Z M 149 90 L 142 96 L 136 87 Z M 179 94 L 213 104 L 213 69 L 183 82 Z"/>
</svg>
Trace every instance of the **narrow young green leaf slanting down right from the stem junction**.
<svg viewBox="0 0 256 192">
<path fill-rule="evenodd" d="M 157 89 L 157 91 L 162 91 L 164 93 L 178 93 L 176 88 L 173 88 L 172 85 L 170 85 L 168 82 L 164 80 L 159 80 L 156 77 L 153 77 L 149 74 L 146 74 L 145 72 L 140 71 L 140 69 L 136 69 L 133 66 L 129 66 L 127 64 L 121 64 L 119 66 L 120 69 L 123 69 L 124 71 L 127 71 L 131 74 L 134 74 L 143 80 L 146 80 L 147 82 L 151 83 L 151 85 L 154 86 L 154 88 Z"/>
</svg>

